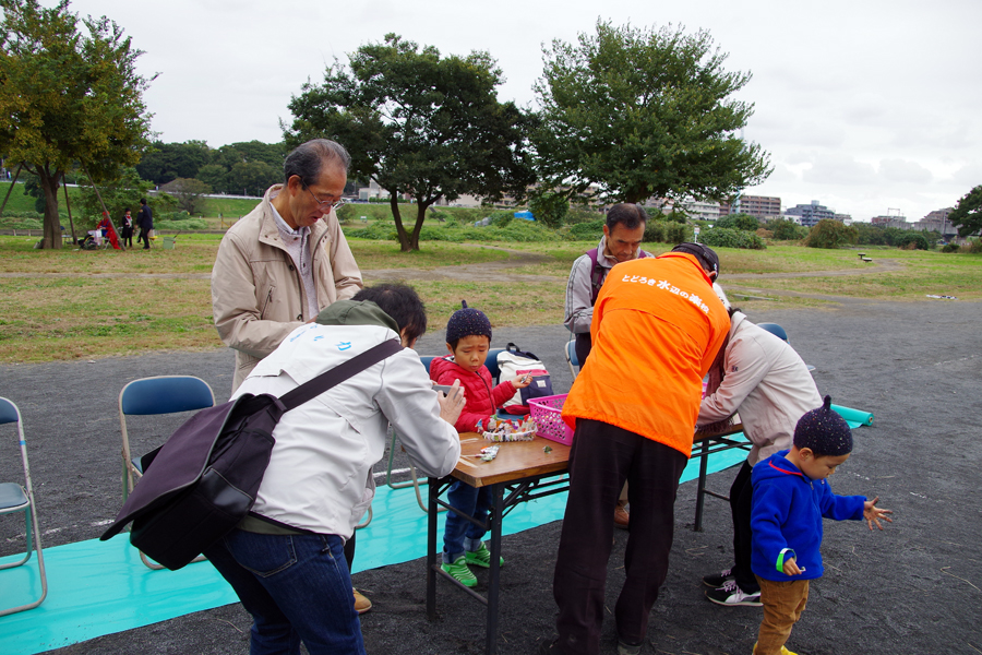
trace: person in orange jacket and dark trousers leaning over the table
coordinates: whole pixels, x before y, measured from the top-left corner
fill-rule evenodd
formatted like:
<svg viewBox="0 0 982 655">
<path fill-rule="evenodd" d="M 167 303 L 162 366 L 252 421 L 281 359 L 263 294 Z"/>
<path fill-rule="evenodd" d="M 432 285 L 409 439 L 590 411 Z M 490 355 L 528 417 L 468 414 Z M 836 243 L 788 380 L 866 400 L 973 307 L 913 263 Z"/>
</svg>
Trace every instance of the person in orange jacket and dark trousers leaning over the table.
<svg viewBox="0 0 982 655">
<path fill-rule="evenodd" d="M 600 290 L 590 364 L 563 406 L 575 436 L 553 580 L 559 639 L 540 653 L 600 652 L 610 513 L 625 480 L 631 527 L 614 617 L 618 652 L 640 651 L 668 572 L 675 491 L 692 453 L 703 377 L 730 330 L 712 291 L 718 275 L 711 249 L 681 243 L 615 265 Z"/>
</svg>

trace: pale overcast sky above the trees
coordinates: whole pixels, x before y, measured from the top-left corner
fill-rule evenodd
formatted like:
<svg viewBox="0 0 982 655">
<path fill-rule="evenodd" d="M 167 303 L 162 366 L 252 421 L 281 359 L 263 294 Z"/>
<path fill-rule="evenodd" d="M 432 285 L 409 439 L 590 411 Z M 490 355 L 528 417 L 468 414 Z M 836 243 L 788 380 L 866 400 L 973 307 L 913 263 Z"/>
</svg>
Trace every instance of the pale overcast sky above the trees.
<svg viewBox="0 0 982 655">
<path fill-rule="evenodd" d="M 50 7 L 53 0 L 41 0 Z M 979 0 L 74 0 L 107 15 L 159 73 L 145 99 L 166 142 L 282 139 L 290 97 L 390 32 L 444 55 L 487 50 L 501 99 L 534 107 L 542 46 L 599 19 L 708 29 L 729 70 L 751 71 L 745 138 L 774 174 L 747 194 L 818 200 L 869 221 L 917 221 L 982 183 Z"/>
</svg>

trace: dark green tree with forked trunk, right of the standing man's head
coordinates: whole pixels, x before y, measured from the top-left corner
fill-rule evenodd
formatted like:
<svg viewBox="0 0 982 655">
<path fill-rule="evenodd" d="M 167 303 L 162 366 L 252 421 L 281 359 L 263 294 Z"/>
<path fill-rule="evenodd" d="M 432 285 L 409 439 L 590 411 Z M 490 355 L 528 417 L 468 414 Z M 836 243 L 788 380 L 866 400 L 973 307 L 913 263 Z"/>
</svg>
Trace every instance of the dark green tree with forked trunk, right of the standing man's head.
<svg viewBox="0 0 982 655">
<path fill-rule="evenodd" d="M 441 57 L 395 34 L 328 67 L 324 84 L 304 84 L 289 105 L 287 145 L 313 138 L 343 143 L 354 177 L 374 178 L 390 193 L 399 246 L 419 250 L 427 209 L 464 194 L 498 200 L 525 194 L 534 180 L 526 154 L 529 117 L 499 103 L 501 70 L 487 52 Z M 408 231 L 398 200 L 410 196 Z"/>
</svg>

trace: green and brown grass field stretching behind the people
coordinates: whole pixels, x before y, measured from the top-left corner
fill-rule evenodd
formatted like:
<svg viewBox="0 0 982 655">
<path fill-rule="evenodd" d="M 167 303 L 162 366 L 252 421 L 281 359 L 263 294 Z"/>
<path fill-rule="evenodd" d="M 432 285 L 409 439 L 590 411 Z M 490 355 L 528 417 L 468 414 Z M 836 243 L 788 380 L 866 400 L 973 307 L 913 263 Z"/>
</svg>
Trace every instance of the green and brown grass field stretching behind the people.
<svg viewBox="0 0 982 655">
<path fill-rule="evenodd" d="M 221 347 L 212 323 L 209 274 L 220 235 L 181 235 L 175 250 L 119 252 L 34 250 L 36 239 L 0 237 L 0 362 L 39 362 L 135 355 L 149 349 Z M 562 321 L 563 293 L 573 261 L 592 242 L 424 242 L 410 254 L 397 245 L 350 240 L 372 284 L 372 271 L 407 271 L 427 303 L 431 326 L 441 326 L 462 298 L 483 309 L 496 326 Z M 667 246 L 649 247 L 655 253 Z M 539 255 L 536 264 L 510 273 L 549 276 L 535 284 L 438 281 L 426 272 L 441 266 L 508 259 L 507 250 Z M 971 254 L 877 250 L 881 273 L 727 281 L 736 273 L 807 274 L 861 269 L 854 250 L 771 246 L 764 251 L 719 249 L 721 283 L 736 288 L 785 289 L 890 300 L 924 300 L 925 294 L 982 299 L 982 258 Z M 869 264 L 864 264 L 869 269 Z M 420 272 L 415 272 L 418 270 Z M 146 275 L 153 275 L 148 277 Z M 786 299 L 781 300 L 787 302 Z M 758 301 L 763 302 L 763 301 Z M 789 306 L 815 306 L 793 300 Z M 747 303 L 742 303 L 744 307 Z"/>
</svg>

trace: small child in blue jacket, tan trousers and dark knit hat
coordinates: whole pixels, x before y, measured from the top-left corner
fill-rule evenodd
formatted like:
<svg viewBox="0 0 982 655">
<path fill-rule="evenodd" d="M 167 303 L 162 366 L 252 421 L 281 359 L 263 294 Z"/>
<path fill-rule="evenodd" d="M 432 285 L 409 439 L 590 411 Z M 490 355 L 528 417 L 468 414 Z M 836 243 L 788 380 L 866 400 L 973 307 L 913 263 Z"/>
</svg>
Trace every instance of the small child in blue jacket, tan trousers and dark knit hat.
<svg viewBox="0 0 982 655">
<path fill-rule="evenodd" d="M 754 655 L 794 655 L 785 647 L 791 628 L 809 599 L 809 581 L 822 577 L 822 519 L 879 520 L 890 510 L 879 498 L 836 496 L 826 478 L 849 458 L 852 431 L 831 408 L 831 398 L 806 413 L 794 428 L 790 451 L 778 452 L 754 466 L 751 513 L 751 567 L 761 583 L 764 620 Z"/>
</svg>

